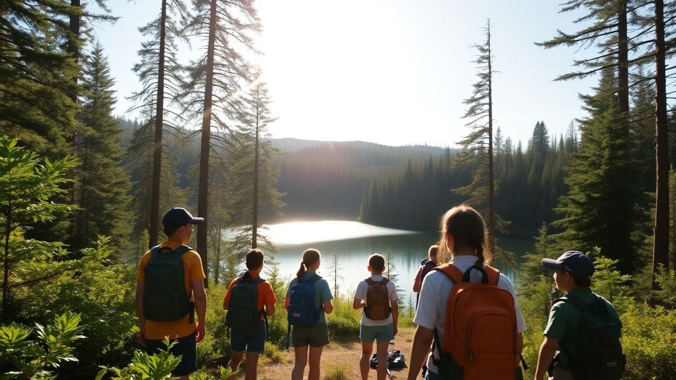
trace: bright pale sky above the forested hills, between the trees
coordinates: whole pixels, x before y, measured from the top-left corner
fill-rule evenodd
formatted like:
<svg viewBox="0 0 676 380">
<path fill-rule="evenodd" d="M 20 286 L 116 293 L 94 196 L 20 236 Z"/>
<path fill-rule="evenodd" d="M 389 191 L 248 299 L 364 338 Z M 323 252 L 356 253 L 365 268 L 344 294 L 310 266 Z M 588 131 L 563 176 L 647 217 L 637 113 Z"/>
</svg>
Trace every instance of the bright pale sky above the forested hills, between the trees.
<svg viewBox="0 0 676 380">
<path fill-rule="evenodd" d="M 109 1 L 113 26 L 97 36 L 116 78 L 123 115 L 125 98 L 139 89 L 131 71 L 143 39 L 137 28 L 155 18 L 160 1 Z M 559 1 L 543 0 L 258 0 L 264 34 L 260 65 L 279 117 L 274 138 L 363 140 L 387 145 L 454 145 L 469 131 L 462 100 L 477 81 L 475 50 L 491 19 L 494 126 L 527 144 L 535 123 L 550 133 L 583 117 L 577 94 L 596 79 L 554 82 L 570 72 L 576 48 L 545 50 L 533 44 L 560 28 L 577 29 Z M 195 49 L 195 47 L 193 47 Z M 577 53 L 576 53 L 577 52 Z M 195 55 L 185 51 L 184 57 Z M 126 115 L 134 117 L 135 115 Z"/>
</svg>

